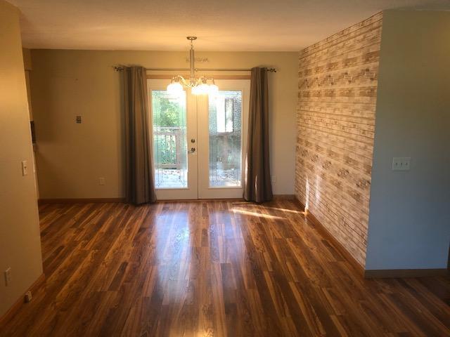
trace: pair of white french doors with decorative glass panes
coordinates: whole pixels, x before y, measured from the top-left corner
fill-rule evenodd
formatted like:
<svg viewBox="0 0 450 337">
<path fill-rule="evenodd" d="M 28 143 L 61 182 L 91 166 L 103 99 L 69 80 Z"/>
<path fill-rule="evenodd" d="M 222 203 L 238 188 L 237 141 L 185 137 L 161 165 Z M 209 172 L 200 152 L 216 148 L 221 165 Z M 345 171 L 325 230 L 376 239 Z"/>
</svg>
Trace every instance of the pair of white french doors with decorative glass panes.
<svg viewBox="0 0 450 337">
<path fill-rule="evenodd" d="M 158 199 L 226 199 L 243 195 L 250 80 L 215 80 L 217 95 L 166 91 L 148 79 Z"/>
</svg>

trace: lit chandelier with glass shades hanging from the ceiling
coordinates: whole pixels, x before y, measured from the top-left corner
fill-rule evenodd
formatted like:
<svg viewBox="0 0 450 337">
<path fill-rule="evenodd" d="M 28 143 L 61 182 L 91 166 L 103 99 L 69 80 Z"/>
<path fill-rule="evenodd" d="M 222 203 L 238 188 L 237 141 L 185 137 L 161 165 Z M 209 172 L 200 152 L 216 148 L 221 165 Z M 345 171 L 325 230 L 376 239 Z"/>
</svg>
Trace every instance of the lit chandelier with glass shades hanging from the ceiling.
<svg viewBox="0 0 450 337">
<path fill-rule="evenodd" d="M 214 84 L 213 78 L 205 76 L 195 77 L 195 56 L 193 41 L 197 37 L 186 37 L 191 41 L 191 50 L 189 51 L 189 79 L 185 79 L 181 75 L 172 77 L 172 81 L 167 86 L 167 91 L 174 95 L 180 95 L 183 92 L 183 87 L 190 88 L 194 95 L 214 95 L 219 92 L 219 87 Z"/>
</svg>

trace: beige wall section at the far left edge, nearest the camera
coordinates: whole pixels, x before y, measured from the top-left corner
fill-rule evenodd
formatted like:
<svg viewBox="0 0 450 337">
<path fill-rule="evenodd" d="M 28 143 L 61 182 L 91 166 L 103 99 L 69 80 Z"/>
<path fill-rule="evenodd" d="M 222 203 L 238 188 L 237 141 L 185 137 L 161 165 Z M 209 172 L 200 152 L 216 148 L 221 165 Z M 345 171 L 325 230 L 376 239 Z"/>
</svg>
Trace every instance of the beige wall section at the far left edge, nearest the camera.
<svg viewBox="0 0 450 337">
<path fill-rule="evenodd" d="M 0 0 L 0 316 L 41 275 L 41 246 L 19 12 Z M 22 176 L 21 161 L 28 161 Z M 12 282 L 5 286 L 4 270 Z"/>
</svg>

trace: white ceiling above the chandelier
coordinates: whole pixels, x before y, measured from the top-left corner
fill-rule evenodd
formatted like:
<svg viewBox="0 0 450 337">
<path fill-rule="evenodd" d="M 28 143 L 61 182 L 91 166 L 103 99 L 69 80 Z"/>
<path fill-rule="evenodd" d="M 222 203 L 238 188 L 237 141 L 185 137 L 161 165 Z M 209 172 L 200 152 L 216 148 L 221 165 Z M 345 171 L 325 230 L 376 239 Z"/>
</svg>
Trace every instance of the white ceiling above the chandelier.
<svg viewBox="0 0 450 337">
<path fill-rule="evenodd" d="M 450 0 L 7 0 L 27 48 L 300 51 L 388 8 L 450 9 Z"/>
</svg>

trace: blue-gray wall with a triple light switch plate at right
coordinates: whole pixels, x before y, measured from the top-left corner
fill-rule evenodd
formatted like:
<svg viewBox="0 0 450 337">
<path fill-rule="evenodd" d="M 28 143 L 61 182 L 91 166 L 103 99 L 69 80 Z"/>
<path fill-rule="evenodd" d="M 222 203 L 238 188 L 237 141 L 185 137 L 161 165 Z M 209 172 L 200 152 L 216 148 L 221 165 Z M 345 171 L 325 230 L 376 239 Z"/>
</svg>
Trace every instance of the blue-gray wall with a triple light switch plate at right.
<svg viewBox="0 0 450 337">
<path fill-rule="evenodd" d="M 385 11 L 366 269 L 445 269 L 450 12 Z M 411 157 L 410 171 L 392 171 Z"/>
</svg>

